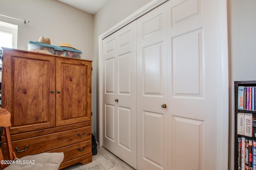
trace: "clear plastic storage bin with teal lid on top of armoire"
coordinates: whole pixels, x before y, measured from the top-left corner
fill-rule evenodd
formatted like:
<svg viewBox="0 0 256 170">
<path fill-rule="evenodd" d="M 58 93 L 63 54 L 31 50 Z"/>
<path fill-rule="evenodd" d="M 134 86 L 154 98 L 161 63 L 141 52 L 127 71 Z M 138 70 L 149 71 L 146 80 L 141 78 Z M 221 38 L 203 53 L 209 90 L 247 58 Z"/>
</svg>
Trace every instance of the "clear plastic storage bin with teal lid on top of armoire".
<svg viewBox="0 0 256 170">
<path fill-rule="evenodd" d="M 60 55 L 64 57 L 73 57 L 80 59 L 82 52 L 69 47 L 59 47 L 54 45 L 48 45 L 35 41 L 28 41 L 28 51 L 35 51 L 39 53 Z"/>
</svg>

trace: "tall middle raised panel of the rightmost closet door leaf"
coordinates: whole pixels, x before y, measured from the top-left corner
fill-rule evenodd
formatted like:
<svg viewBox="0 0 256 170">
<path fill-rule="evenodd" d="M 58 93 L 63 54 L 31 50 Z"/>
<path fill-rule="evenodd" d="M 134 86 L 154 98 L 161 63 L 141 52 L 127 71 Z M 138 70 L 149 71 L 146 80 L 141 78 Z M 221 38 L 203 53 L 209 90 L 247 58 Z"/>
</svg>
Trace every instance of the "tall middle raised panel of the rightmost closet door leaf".
<svg viewBox="0 0 256 170">
<path fill-rule="evenodd" d="M 172 47 L 174 96 L 202 96 L 202 29 L 173 37 Z"/>
</svg>

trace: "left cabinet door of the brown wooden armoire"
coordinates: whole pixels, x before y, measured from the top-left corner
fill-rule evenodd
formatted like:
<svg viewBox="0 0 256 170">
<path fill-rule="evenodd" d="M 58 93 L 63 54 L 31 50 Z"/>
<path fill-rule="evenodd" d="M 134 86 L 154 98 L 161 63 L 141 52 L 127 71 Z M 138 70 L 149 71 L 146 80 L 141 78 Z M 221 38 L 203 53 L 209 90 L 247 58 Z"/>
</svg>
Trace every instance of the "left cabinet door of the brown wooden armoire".
<svg viewBox="0 0 256 170">
<path fill-rule="evenodd" d="M 55 58 L 3 50 L 2 108 L 11 112 L 11 134 L 55 126 Z"/>
</svg>

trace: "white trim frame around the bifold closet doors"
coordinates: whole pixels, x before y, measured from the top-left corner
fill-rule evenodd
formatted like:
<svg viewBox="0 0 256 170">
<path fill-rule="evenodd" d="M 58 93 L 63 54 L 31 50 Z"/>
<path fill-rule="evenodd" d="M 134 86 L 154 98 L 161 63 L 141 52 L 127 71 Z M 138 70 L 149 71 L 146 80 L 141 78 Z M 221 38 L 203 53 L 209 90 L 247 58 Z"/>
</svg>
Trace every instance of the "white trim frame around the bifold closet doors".
<svg viewBox="0 0 256 170">
<path fill-rule="evenodd" d="M 98 109 L 99 109 L 99 147 L 102 147 L 102 41 L 104 38 L 108 37 L 108 35 L 114 33 L 118 29 L 121 29 L 125 25 L 128 25 L 132 21 L 138 19 L 154 8 L 164 4 L 168 0 L 152 0 L 124 20 L 120 21 L 112 28 L 108 29 L 98 38 L 98 47 L 99 47 L 99 61 L 98 61 Z M 219 169 L 228 169 L 228 152 L 221 152 L 224 150 L 228 150 L 228 134 L 229 134 L 229 76 L 228 76 L 228 19 L 227 19 L 227 0 L 216 0 L 216 6 L 218 9 L 218 21 L 219 21 L 219 52 L 220 52 L 220 65 L 221 70 L 218 72 L 219 82 L 218 85 L 221 89 L 220 91 L 220 104 L 216 107 L 217 112 L 219 113 L 219 129 L 218 131 L 218 155 L 219 155 Z"/>
</svg>

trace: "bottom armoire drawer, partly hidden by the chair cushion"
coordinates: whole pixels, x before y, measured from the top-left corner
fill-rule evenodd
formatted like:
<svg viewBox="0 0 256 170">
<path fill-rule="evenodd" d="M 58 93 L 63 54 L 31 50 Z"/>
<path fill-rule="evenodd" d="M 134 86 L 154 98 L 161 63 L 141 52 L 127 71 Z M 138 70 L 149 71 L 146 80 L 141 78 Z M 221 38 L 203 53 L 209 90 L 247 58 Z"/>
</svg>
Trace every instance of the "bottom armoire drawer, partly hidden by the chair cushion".
<svg viewBox="0 0 256 170">
<path fill-rule="evenodd" d="M 64 160 L 62 162 L 66 162 L 68 160 L 72 160 L 74 158 L 77 158 L 79 156 L 83 156 L 92 152 L 92 141 L 91 140 L 83 141 L 83 142 L 69 145 L 66 147 L 50 150 L 49 152 L 64 152 Z"/>
</svg>

